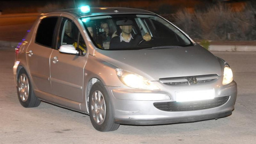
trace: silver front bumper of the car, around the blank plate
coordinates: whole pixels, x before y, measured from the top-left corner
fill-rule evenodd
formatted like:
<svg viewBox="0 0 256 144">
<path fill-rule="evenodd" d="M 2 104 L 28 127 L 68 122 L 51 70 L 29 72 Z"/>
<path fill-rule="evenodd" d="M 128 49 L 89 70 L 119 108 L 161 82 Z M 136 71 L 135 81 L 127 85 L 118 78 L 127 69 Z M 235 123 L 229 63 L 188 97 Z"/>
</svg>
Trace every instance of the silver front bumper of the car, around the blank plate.
<svg viewBox="0 0 256 144">
<path fill-rule="evenodd" d="M 226 117 L 232 114 L 237 97 L 237 84 L 233 81 L 225 86 L 214 87 L 215 98 L 229 97 L 223 105 L 200 110 L 164 111 L 156 108 L 154 103 L 175 101 L 172 93 L 150 91 L 124 92 L 123 90 L 113 88 L 106 87 L 109 95 L 111 95 L 115 122 L 131 125 L 185 123 Z"/>
</svg>

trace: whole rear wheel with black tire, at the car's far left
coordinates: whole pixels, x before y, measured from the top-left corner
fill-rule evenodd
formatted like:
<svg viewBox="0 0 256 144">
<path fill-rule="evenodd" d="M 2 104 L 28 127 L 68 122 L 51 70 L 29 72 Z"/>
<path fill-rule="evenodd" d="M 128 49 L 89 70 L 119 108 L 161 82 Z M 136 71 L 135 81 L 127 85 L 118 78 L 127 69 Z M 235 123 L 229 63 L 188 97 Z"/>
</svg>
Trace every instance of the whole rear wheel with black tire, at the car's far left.
<svg viewBox="0 0 256 144">
<path fill-rule="evenodd" d="M 34 94 L 28 74 L 21 69 L 17 77 L 17 93 L 20 104 L 25 108 L 38 107 L 41 103 Z"/>
</svg>

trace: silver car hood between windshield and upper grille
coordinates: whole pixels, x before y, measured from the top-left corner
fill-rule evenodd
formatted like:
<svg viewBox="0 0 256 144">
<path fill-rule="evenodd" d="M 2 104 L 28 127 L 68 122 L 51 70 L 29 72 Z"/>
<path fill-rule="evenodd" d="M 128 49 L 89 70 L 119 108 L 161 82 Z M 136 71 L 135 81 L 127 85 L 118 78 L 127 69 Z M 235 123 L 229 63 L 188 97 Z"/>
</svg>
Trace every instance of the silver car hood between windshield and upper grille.
<svg viewBox="0 0 256 144">
<path fill-rule="evenodd" d="M 94 56 L 150 81 L 167 77 L 221 75 L 218 59 L 199 45 L 153 50 L 97 49 Z"/>
</svg>

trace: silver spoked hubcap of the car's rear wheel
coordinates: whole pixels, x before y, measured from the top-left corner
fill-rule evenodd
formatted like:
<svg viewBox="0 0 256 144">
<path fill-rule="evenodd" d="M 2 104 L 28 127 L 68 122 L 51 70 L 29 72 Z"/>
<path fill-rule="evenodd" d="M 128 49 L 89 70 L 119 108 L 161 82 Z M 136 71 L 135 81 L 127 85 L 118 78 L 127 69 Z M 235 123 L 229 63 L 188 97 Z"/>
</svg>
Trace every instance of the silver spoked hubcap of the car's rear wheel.
<svg viewBox="0 0 256 144">
<path fill-rule="evenodd" d="M 28 100 L 29 84 L 28 78 L 25 74 L 21 74 L 18 81 L 18 92 L 21 101 L 25 102 Z"/>
</svg>

